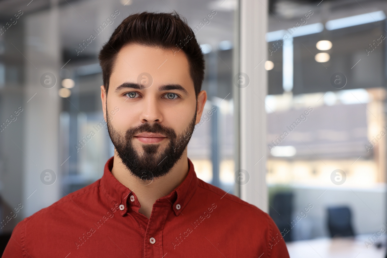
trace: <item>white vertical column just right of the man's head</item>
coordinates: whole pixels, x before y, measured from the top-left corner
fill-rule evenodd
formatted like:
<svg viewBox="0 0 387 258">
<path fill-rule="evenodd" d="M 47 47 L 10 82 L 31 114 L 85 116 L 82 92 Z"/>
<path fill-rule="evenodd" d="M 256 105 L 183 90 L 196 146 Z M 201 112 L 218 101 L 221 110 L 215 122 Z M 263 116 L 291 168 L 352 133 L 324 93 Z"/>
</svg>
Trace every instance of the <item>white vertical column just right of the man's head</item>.
<svg viewBox="0 0 387 258">
<path fill-rule="evenodd" d="M 240 0 L 240 72 L 250 79 L 240 89 L 240 169 L 249 182 L 241 199 L 268 212 L 266 187 L 267 0 Z M 262 158 L 263 156 L 263 158 Z M 261 159 L 262 158 L 262 159 Z M 259 161 L 260 160 L 260 161 Z M 258 162 L 259 161 L 259 162 Z M 258 163 L 257 163 L 258 162 Z"/>
</svg>

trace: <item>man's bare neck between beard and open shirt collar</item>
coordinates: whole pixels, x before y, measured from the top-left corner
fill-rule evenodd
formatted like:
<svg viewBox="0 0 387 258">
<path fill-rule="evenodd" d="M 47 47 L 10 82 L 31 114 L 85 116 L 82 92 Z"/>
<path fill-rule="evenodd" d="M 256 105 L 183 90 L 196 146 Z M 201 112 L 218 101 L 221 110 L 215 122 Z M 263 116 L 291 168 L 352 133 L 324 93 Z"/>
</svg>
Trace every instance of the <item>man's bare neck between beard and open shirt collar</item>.
<svg viewBox="0 0 387 258">
<path fill-rule="evenodd" d="M 149 185 L 144 185 L 139 178 L 130 174 L 130 171 L 122 163 L 122 160 L 116 152 L 114 153 L 113 176 L 122 185 L 132 190 L 139 202 L 139 212 L 148 219 L 151 217 L 153 204 L 161 197 L 169 195 L 177 186 L 179 186 L 188 174 L 187 149 L 184 150 L 182 157 L 176 162 L 171 171 L 161 178 L 154 179 Z M 148 184 L 146 183 L 146 184 Z"/>
</svg>

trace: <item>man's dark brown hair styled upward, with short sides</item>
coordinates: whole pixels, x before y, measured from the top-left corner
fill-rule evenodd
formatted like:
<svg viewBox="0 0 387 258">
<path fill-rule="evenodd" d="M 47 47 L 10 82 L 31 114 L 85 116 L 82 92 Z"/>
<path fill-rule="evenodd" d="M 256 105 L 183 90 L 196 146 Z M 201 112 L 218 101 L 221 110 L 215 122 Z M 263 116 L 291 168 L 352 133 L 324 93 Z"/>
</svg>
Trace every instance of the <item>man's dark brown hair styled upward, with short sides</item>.
<svg viewBox="0 0 387 258">
<path fill-rule="evenodd" d="M 125 18 L 115 29 L 109 41 L 102 46 L 98 59 L 102 68 L 103 84 L 109 89 L 110 75 L 118 52 L 127 44 L 140 44 L 164 50 L 184 51 L 190 76 L 194 82 L 196 99 L 204 79 L 204 55 L 187 19 L 171 13 L 142 12 Z"/>
</svg>

